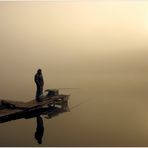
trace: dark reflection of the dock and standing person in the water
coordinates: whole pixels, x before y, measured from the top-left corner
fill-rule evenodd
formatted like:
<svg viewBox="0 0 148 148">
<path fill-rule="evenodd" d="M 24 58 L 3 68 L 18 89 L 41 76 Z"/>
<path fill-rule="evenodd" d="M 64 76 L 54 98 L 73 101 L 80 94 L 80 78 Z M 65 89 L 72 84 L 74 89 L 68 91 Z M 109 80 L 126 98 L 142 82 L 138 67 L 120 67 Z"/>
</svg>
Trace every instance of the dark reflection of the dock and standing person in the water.
<svg viewBox="0 0 148 148">
<path fill-rule="evenodd" d="M 10 122 L 18 119 L 31 119 L 36 118 L 36 131 L 34 133 L 34 138 L 37 140 L 38 144 L 42 144 L 42 138 L 44 135 L 44 121 L 43 117 L 46 119 L 52 119 L 62 113 L 69 112 L 68 100 L 64 102 L 56 103 L 52 106 L 46 106 L 43 108 L 29 110 L 21 114 L 12 114 L 12 116 L 0 117 L 0 123 Z"/>
</svg>

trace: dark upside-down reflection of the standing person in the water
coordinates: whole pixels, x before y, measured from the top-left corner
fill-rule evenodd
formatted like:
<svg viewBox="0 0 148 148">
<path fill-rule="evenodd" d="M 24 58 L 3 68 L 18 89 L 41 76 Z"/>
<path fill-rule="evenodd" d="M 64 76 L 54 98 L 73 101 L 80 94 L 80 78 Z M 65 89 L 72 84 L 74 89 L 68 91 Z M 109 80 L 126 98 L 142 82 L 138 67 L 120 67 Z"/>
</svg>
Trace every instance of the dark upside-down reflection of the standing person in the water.
<svg viewBox="0 0 148 148">
<path fill-rule="evenodd" d="M 43 119 L 40 116 L 36 117 L 37 127 L 35 132 L 35 139 L 38 141 L 39 144 L 42 143 L 42 137 L 44 134 L 44 124 Z"/>
</svg>

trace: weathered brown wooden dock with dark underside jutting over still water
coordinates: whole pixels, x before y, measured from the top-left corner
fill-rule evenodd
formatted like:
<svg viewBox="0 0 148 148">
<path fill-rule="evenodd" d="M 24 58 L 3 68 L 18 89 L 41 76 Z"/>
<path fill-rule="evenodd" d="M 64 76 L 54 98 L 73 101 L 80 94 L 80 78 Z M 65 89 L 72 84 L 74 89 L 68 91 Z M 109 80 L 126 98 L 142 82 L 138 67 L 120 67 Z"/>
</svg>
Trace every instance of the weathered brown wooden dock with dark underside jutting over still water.
<svg viewBox="0 0 148 148">
<path fill-rule="evenodd" d="M 2 100 L 3 108 L 0 109 L 0 123 L 20 118 L 31 118 L 37 115 L 63 112 L 68 106 L 69 95 L 55 95 L 44 98 L 41 102 L 31 100 L 18 102 Z"/>
</svg>

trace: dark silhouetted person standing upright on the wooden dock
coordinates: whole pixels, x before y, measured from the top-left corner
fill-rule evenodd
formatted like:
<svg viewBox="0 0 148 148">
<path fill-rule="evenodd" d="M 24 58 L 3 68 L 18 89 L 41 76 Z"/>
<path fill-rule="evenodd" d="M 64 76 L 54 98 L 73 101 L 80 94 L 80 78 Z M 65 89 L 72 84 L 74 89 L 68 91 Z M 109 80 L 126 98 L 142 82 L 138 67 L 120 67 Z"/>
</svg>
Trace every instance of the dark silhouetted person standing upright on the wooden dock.
<svg viewBox="0 0 148 148">
<path fill-rule="evenodd" d="M 36 100 L 40 101 L 39 96 L 43 93 L 43 86 L 44 86 L 44 80 L 43 80 L 43 75 L 42 75 L 42 70 L 38 69 L 37 73 L 34 76 L 34 81 L 37 86 L 36 90 Z"/>
</svg>

